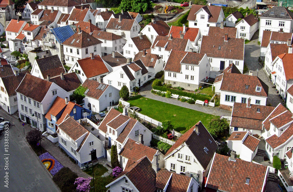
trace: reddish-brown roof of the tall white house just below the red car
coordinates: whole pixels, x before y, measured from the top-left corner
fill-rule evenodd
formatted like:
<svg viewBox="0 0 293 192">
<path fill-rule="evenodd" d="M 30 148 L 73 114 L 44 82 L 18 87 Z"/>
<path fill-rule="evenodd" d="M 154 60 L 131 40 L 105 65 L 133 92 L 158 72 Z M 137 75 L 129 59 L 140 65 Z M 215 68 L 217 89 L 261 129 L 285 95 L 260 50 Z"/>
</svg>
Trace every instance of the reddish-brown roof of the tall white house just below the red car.
<svg viewBox="0 0 293 192">
<path fill-rule="evenodd" d="M 187 20 L 195 21 L 196 12 L 203 8 L 208 14 L 208 22 L 217 23 L 222 7 L 219 6 L 204 6 L 204 5 L 192 5 Z"/>
</svg>

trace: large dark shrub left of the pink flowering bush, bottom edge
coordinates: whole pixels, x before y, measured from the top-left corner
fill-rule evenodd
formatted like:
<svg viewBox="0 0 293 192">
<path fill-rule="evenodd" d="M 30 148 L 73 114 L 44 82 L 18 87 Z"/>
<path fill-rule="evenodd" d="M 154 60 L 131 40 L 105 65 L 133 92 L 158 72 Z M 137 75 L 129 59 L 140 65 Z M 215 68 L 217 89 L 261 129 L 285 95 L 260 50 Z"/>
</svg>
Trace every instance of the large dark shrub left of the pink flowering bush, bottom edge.
<svg viewBox="0 0 293 192">
<path fill-rule="evenodd" d="M 78 178 L 76 173 L 72 172 L 68 167 L 63 167 L 53 176 L 53 181 L 62 192 L 72 192 L 76 189 L 76 185 L 74 185 L 76 178 Z"/>
</svg>

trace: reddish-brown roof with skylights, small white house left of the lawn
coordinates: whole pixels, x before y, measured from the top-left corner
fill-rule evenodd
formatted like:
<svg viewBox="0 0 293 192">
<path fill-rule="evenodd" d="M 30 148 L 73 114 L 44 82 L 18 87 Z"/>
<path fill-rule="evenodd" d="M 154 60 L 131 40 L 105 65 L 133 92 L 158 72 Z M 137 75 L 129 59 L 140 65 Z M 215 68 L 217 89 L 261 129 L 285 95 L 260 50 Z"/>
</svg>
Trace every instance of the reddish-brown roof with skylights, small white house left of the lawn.
<svg viewBox="0 0 293 192">
<path fill-rule="evenodd" d="M 97 89 L 99 85 L 105 85 L 105 88 L 103 90 Z M 85 94 L 88 97 L 93 97 L 95 99 L 99 99 L 101 95 L 105 92 L 105 90 L 108 88 L 109 85 L 99 83 L 98 81 L 86 79 L 85 82 L 82 84 L 83 87 L 86 87 L 89 89 L 89 91 Z"/>
</svg>

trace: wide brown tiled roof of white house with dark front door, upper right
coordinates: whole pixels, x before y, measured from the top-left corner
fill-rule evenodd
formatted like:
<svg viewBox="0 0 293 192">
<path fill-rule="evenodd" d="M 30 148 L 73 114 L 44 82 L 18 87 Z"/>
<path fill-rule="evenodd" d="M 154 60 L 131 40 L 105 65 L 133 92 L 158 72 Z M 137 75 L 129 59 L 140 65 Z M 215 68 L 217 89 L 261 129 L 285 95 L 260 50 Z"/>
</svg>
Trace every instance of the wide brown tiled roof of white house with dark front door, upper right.
<svg viewBox="0 0 293 192">
<path fill-rule="evenodd" d="M 200 53 L 208 57 L 226 59 L 244 59 L 244 39 L 230 38 L 224 41 L 224 37 L 202 36 Z"/>
</svg>

